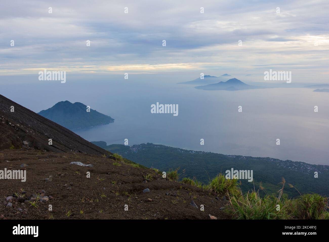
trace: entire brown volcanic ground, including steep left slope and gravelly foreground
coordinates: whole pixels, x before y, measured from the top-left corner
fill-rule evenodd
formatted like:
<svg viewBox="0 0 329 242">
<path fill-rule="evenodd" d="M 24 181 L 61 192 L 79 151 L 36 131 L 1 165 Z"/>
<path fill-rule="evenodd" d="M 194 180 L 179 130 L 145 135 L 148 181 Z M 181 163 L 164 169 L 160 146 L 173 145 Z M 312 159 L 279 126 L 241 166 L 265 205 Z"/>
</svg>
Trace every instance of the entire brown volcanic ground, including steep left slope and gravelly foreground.
<svg viewBox="0 0 329 242">
<path fill-rule="evenodd" d="M 0 179 L 0 219 L 230 218 L 221 210 L 225 198 L 117 161 L 111 152 L 0 95 L 0 173 L 5 169 L 25 169 L 26 181 Z M 152 178 L 146 179 L 148 174 Z"/>
</svg>

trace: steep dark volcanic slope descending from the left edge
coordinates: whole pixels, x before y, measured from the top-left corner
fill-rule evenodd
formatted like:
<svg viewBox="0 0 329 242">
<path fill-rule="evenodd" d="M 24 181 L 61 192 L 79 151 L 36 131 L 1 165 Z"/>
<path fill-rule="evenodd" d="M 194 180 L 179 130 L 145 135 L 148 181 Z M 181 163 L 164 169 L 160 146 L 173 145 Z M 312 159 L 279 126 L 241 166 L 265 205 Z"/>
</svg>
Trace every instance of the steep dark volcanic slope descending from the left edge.
<svg viewBox="0 0 329 242">
<path fill-rule="evenodd" d="M 12 111 L 13 107 L 13 111 Z M 48 140 L 52 139 L 52 145 Z M 53 152 L 109 153 L 63 126 L 0 95 L 0 150 L 31 148 Z"/>
</svg>

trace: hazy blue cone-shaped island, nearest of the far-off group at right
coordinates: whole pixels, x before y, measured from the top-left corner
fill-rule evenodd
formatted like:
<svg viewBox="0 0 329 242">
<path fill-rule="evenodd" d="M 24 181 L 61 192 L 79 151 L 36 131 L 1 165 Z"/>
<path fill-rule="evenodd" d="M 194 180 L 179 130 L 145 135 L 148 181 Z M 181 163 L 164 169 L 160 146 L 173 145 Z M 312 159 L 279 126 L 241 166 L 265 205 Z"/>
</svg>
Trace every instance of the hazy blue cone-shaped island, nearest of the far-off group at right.
<svg viewBox="0 0 329 242">
<path fill-rule="evenodd" d="M 257 89 L 257 86 L 251 86 L 241 82 L 237 78 L 232 78 L 227 80 L 226 82 L 220 81 L 215 84 L 209 84 L 205 86 L 197 86 L 196 89 L 202 90 L 226 90 L 226 91 L 238 91 L 238 90 L 246 90 L 246 89 Z"/>
</svg>

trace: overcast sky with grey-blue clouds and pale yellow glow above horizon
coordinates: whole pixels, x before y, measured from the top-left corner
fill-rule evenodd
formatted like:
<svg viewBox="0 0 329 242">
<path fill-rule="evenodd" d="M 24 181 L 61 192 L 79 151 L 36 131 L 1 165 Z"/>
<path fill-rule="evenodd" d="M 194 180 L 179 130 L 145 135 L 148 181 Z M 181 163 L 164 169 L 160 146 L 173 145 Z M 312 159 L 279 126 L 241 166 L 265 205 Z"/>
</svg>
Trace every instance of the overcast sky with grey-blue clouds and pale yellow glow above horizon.
<svg viewBox="0 0 329 242">
<path fill-rule="evenodd" d="M 0 75 L 271 68 L 328 82 L 328 9 L 328 0 L 1 1 Z"/>
</svg>

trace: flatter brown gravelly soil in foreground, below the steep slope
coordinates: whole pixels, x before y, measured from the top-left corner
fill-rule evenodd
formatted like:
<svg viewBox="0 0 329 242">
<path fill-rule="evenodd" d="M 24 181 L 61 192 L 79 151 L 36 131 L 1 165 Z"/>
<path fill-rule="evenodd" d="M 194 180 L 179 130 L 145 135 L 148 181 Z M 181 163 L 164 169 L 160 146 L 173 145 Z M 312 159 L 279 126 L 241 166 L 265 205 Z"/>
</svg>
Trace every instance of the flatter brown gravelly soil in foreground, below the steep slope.
<svg viewBox="0 0 329 242">
<path fill-rule="evenodd" d="M 92 164 L 93 168 L 70 165 L 72 161 Z M 218 219 L 230 218 L 219 209 L 227 201 L 217 200 L 215 194 L 169 181 L 151 169 L 124 162 L 115 166 L 114 160 L 99 155 L 32 149 L 0 151 L 0 170 L 24 169 L 20 168 L 23 163 L 28 165 L 26 182 L 0 180 L 1 219 L 210 219 L 209 214 Z M 86 177 L 88 171 L 90 178 Z M 143 175 L 148 173 L 153 174 L 153 180 L 143 182 Z M 150 192 L 143 193 L 145 188 Z M 25 195 L 20 202 L 13 198 L 13 205 L 7 206 L 6 197 L 15 192 Z M 38 202 L 37 208 L 22 202 L 34 194 L 52 197 L 48 202 Z M 190 205 L 192 200 L 198 208 Z M 52 211 L 48 210 L 49 204 Z M 125 204 L 128 211 L 124 210 Z M 204 211 L 200 211 L 201 204 Z M 68 211 L 70 216 L 65 215 Z"/>
</svg>

